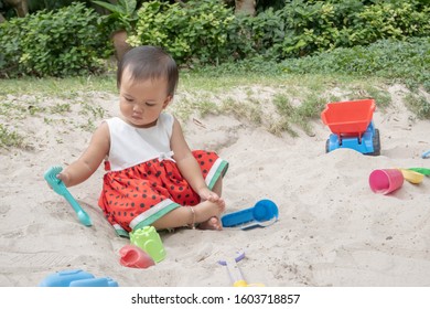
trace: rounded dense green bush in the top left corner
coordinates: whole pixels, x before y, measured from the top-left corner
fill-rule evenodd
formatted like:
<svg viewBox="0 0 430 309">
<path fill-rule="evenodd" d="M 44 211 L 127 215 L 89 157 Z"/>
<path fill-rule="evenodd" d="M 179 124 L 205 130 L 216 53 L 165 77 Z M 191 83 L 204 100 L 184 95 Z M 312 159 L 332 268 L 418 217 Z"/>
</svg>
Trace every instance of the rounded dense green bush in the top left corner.
<svg viewBox="0 0 430 309">
<path fill-rule="evenodd" d="M 99 15 L 82 3 L 0 24 L 0 76 L 97 73 L 107 53 Z"/>
</svg>

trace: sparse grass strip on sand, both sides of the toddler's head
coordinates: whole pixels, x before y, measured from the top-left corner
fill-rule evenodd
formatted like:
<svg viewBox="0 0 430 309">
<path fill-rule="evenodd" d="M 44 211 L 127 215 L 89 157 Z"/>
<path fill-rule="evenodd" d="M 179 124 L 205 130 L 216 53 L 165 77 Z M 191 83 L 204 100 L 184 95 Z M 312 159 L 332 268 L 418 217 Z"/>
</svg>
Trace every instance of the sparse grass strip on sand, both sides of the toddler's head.
<svg viewBox="0 0 430 309">
<path fill-rule="evenodd" d="M 311 120 L 319 119 L 327 102 L 374 97 L 379 108 L 390 105 L 389 81 L 341 74 L 227 74 L 218 76 L 186 72 L 181 76 L 173 111 L 181 120 L 197 113 L 234 115 L 275 135 L 297 136 L 302 129 L 312 136 Z M 25 134 L 14 124 L 28 117 L 44 117 L 45 124 L 57 124 L 78 110 L 83 121 L 76 129 L 93 131 L 97 119 L 106 117 L 101 106 L 92 103 L 92 93 L 116 94 L 115 76 L 89 78 L 22 78 L 0 81 L 0 148 L 25 148 Z M 47 103 L 47 100 L 50 103 Z M 267 107 L 271 108 L 267 110 Z M 430 117 L 422 96 L 408 97 L 408 106 L 420 117 Z M 56 115 L 56 116 L 55 116 Z M 60 142 L 60 141 L 58 141 Z"/>
</svg>

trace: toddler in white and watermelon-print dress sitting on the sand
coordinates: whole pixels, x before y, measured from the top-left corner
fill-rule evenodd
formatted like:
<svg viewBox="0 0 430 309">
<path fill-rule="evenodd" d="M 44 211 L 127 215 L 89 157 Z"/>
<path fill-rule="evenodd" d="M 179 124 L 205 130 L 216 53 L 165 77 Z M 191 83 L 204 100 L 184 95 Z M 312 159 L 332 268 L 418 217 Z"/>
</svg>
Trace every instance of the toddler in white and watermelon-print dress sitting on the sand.
<svg viewBox="0 0 430 309">
<path fill-rule="evenodd" d="M 99 206 L 118 235 L 152 225 L 222 230 L 222 179 L 228 163 L 191 151 L 180 122 L 164 111 L 179 72 L 157 46 L 130 50 L 118 64 L 120 117 L 107 119 L 88 148 L 57 174 L 66 187 L 87 180 L 105 160 Z"/>
</svg>

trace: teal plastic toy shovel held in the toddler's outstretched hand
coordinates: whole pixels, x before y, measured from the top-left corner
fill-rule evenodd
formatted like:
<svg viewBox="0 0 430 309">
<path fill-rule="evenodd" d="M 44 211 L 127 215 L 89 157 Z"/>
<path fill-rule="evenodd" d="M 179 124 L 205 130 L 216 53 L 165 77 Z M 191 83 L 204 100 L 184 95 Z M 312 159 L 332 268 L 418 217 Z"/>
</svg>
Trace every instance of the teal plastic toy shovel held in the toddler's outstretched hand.
<svg viewBox="0 0 430 309">
<path fill-rule="evenodd" d="M 56 178 L 56 175 L 63 170 L 61 167 L 51 167 L 44 174 L 44 179 L 47 181 L 47 183 L 51 185 L 51 188 L 58 193 L 60 195 L 63 195 L 66 201 L 72 205 L 73 210 L 76 212 L 77 217 L 79 219 L 80 223 L 86 226 L 92 226 L 92 219 L 89 215 L 80 207 L 78 202 L 73 198 L 71 192 L 68 192 L 66 185 Z"/>
</svg>

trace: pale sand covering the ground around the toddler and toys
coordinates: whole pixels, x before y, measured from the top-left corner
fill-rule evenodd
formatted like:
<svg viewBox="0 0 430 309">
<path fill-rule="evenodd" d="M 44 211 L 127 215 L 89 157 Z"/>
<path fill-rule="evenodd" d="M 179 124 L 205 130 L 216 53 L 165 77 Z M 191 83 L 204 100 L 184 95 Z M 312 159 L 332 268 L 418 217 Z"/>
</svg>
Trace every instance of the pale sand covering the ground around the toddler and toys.
<svg viewBox="0 0 430 309">
<path fill-rule="evenodd" d="M 29 145 L 0 152 L 0 286 L 35 287 L 55 271 L 83 269 L 125 287 L 228 287 L 227 269 L 217 262 L 238 252 L 245 253 L 238 265 L 250 284 L 429 286 L 430 178 L 405 182 L 388 195 L 368 185 L 374 169 L 430 167 L 430 159 L 421 158 L 430 150 L 430 121 L 407 110 L 405 92 L 391 89 L 393 105 L 374 114 L 378 157 L 350 149 L 325 153 L 330 129 L 320 119 L 311 124 L 313 136 L 298 129 L 293 138 L 233 116 L 192 117 L 183 124 L 190 146 L 216 150 L 230 163 L 223 192 L 226 213 L 269 199 L 278 205 L 279 221 L 249 231 L 161 232 L 166 257 L 146 269 L 119 264 L 119 249 L 129 241 L 116 236 L 97 206 L 101 167 L 71 188 L 90 215 L 90 227 L 43 180 L 49 167 L 64 167 L 85 149 L 90 138 L 86 126 L 118 113 L 116 96 L 82 94 L 69 98 L 75 104 L 63 114 L 45 110 L 12 124 L 2 117 L 1 122 L 25 132 Z M 23 106 L 33 99 L 9 97 Z M 44 105 L 57 103 L 49 98 Z M 98 108 L 105 111 L 92 120 Z"/>
</svg>

